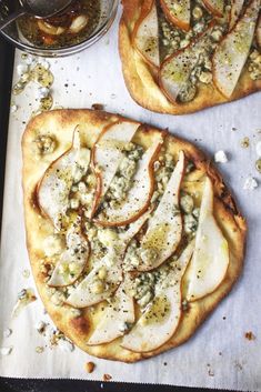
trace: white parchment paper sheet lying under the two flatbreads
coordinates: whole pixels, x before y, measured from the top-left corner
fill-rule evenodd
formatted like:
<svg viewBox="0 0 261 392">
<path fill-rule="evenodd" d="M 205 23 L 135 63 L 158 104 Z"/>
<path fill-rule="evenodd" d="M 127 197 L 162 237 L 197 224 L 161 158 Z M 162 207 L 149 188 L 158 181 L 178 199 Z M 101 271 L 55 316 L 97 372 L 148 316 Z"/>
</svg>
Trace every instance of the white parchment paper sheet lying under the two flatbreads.
<svg viewBox="0 0 261 392">
<path fill-rule="evenodd" d="M 243 274 L 230 295 L 185 344 L 154 359 L 124 364 L 91 359 L 79 349 L 71 353 L 60 348 L 46 348 L 43 353 L 37 353 L 36 346 L 46 344 L 34 328 L 37 322 L 47 319 L 40 299 L 11 321 L 18 292 L 33 287 L 32 279 L 22 275 L 30 267 L 24 243 L 20 145 L 26 122 L 37 107 L 36 88 L 29 86 L 24 93 L 16 97 L 19 109 L 10 114 L 0 264 L 0 346 L 13 346 L 13 350 L 10 355 L 0 358 L 0 375 L 102 380 L 102 375 L 109 373 L 113 381 L 261 391 L 261 174 L 254 169 L 255 144 L 261 139 L 258 132 L 261 94 L 183 117 L 157 114 L 140 108 L 123 82 L 118 21 L 119 16 L 110 32 L 92 48 L 70 58 L 49 60 L 56 78 L 54 105 L 90 108 L 92 103 L 103 103 L 107 111 L 169 128 L 210 155 L 224 150 L 229 162 L 220 164 L 220 170 L 249 224 Z M 17 51 L 16 66 L 20 62 L 21 52 Z M 16 66 L 14 81 L 18 80 Z M 250 138 L 247 149 L 240 147 L 244 137 Z M 259 182 L 254 191 L 243 190 L 250 174 Z M 2 336 L 6 328 L 13 331 L 9 338 Z M 255 340 L 244 338 L 248 331 L 253 332 Z M 84 370 L 88 361 L 97 365 L 92 374 Z"/>
</svg>

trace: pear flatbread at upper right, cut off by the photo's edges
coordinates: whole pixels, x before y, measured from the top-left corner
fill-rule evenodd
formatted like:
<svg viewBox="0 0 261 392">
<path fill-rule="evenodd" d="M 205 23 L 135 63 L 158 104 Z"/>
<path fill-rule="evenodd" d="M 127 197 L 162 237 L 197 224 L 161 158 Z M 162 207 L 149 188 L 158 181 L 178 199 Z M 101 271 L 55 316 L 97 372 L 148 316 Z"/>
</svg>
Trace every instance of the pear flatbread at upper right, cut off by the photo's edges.
<svg viewBox="0 0 261 392">
<path fill-rule="evenodd" d="M 260 0 L 123 0 L 119 47 L 143 108 L 185 114 L 261 89 Z"/>
</svg>

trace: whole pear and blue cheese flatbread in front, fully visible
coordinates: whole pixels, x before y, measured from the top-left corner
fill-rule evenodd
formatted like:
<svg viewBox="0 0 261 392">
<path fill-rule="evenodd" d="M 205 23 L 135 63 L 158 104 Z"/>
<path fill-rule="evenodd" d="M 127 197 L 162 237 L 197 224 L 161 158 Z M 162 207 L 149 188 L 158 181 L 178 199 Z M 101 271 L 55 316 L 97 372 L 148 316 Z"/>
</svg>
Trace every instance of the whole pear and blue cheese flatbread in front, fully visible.
<svg viewBox="0 0 261 392">
<path fill-rule="evenodd" d="M 57 328 L 123 362 L 193 335 L 244 253 L 244 219 L 211 161 L 167 131 L 94 110 L 33 118 L 22 152 L 27 247 Z"/>
</svg>

